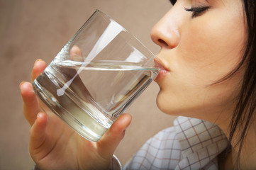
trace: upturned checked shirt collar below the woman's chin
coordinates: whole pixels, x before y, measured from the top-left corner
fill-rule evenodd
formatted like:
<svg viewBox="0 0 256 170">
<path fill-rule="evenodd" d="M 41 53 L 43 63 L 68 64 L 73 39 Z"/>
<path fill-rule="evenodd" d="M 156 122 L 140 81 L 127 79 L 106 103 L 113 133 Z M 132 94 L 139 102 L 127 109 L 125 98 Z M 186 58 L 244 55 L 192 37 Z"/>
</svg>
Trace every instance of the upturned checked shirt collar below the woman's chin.
<svg viewBox="0 0 256 170">
<path fill-rule="evenodd" d="M 180 116 L 174 120 L 174 126 L 183 156 L 179 166 L 202 168 L 228 145 L 223 131 L 208 121 Z"/>
</svg>

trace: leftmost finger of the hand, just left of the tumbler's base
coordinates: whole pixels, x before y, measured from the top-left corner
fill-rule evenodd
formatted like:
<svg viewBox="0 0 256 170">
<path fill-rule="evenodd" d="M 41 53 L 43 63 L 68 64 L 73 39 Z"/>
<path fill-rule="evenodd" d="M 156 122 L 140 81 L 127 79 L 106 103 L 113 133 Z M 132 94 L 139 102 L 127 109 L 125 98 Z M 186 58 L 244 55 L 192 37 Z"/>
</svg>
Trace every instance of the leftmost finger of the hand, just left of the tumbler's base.
<svg viewBox="0 0 256 170">
<path fill-rule="evenodd" d="M 32 84 L 23 82 L 20 84 L 21 96 L 23 98 L 23 114 L 30 125 L 33 125 L 36 115 L 40 111 L 38 99 L 33 91 Z"/>
</svg>

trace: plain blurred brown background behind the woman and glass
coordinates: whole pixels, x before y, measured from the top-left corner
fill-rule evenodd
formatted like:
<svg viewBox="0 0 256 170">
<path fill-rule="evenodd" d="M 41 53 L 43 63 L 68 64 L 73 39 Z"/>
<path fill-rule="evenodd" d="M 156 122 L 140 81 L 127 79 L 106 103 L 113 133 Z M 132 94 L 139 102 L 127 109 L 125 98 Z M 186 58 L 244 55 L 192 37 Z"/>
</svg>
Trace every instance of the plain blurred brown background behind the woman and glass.
<svg viewBox="0 0 256 170">
<path fill-rule="evenodd" d="M 28 153 L 30 126 L 22 113 L 18 85 L 30 81 L 33 62 L 50 62 L 67 40 L 98 8 L 121 23 L 157 54 L 152 26 L 171 8 L 168 0 L 0 0 L 0 169 L 32 169 Z M 174 117 L 155 104 L 159 87 L 152 83 L 128 109 L 133 122 L 116 150 L 125 164 L 137 149 Z"/>
</svg>

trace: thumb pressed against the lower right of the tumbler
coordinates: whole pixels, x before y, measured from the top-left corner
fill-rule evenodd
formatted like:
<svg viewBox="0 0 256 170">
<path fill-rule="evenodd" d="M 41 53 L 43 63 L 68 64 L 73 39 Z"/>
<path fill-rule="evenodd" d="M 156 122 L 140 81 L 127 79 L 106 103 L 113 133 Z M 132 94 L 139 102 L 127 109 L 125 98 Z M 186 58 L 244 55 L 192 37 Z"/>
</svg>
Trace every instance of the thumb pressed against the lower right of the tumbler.
<svg viewBox="0 0 256 170">
<path fill-rule="evenodd" d="M 119 118 L 111 125 L 111 128 L 101 137 L 101 140 L 97 142 L 99 149 L 103 155 L 109 157 L 113 154 L 125 135 L 126 128 L 130 125 L 131 115 L 123 113 Z"/>
</svg>

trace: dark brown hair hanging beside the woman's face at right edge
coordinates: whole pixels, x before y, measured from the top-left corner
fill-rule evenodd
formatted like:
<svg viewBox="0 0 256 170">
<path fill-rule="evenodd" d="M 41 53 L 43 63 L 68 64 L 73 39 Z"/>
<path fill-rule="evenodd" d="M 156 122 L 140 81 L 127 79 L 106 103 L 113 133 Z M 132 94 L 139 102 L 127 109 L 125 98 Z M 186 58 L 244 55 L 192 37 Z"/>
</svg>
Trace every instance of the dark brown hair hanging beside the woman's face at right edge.
<svg viewBox="0 0 256 170">
<path fill-rule="evenodd" d="M 250 125 L 255 121 L 256 108 L 256 6 L 255 0 L 243 1 L 245 12 L 245 24 L 247 26 L 247 42 L 245 44 L 245 53 L 243 59 L 238 65 L 245 65 L 245 74 L 243 77 L 243 85 L 240 90 L 238 103 L 233 112 L 233 117 L 230 121 L 229 137 L 231 142 L 235 134 L 235 146 L 238 147 L 238 161 L 236 167 L 239 167 L 240 152 L 243 148 L 243 142 L 250 129 Z M 238 68 L 237 67 L 237 68 Z M 238 69 L 235 70 L 235 72 Z M 256 142 L 256 141 L 255 141 Z"/>
</svg>

